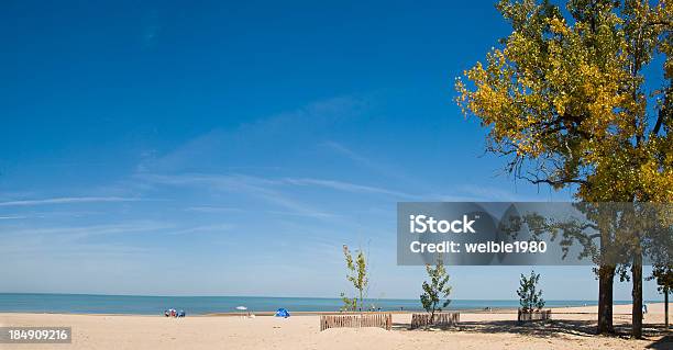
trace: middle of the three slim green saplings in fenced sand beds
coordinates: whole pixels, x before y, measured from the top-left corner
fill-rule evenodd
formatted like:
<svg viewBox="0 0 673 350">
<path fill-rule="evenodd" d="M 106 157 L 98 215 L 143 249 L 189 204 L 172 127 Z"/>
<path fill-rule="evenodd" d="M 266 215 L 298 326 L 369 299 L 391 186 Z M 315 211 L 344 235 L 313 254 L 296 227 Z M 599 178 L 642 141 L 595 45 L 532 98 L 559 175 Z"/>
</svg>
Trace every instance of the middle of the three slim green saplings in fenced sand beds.
<svg viewBox="0 0 673 350">
<path fill-rule="evenodd" d="M 441 312 L 451 303 L 451 300 L 449 300 L 451 285 L 449 285 L 449 274 L 441 258 L 437 259 L 434 268 L 426 264 L 426 271 L 430 278 L 430 283 L 423 281 L 423 294 L 421 294 L 420 300 L 423 308 L 430 313 L 430 323 L 432 324 L 434 323 L 434 313 Z M 444 301 L 442 302 L 442 300 Z"/>
</svg>

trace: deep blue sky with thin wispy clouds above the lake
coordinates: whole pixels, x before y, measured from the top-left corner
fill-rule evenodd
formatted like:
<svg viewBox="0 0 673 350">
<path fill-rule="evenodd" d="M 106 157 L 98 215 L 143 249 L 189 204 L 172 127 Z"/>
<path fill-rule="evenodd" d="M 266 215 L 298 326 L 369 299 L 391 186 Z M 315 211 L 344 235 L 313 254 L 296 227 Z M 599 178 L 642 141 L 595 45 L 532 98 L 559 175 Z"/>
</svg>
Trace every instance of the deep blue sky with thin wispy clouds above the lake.
<svg viewBox="0 0 673 350">
<path fill-rule="evenodd" d="M 0 292 L 333 297 L 347 244 L 371 296 L 417 297 L 398 201 L 570 199 L 503 174 L 452 101 L 507 33 L 490 1 L 5 3 Z M 589 268 L 538 270 L 597 296 Z M 515 298 L 526 269 L 449 272 Z"/>
</svg>

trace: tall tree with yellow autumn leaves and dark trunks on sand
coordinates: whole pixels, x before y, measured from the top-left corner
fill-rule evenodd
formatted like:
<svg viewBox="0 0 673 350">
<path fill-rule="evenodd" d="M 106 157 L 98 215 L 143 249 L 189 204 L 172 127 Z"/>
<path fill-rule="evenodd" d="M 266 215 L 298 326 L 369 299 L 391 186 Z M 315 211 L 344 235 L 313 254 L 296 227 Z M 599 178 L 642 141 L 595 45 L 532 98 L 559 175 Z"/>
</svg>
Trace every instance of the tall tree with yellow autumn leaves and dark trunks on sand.
<svg viewBox="0 0 673 350">
<path fill-rule="evenodd" d="M 515 177 L 570 188 L 578 201 L 673 200 L 673 3 L 504 0 L 497 9 L 511 34 L 456 81 L 463 112 L 488 128 L 487 149 L 509 157 Z M 599 234 L 600 249 L 619 239 Z M 641 253 L 628 262 L 635 337 Z M 600 334 L 614 330 L 615 271 L 597 269 Z"/>
</svg>

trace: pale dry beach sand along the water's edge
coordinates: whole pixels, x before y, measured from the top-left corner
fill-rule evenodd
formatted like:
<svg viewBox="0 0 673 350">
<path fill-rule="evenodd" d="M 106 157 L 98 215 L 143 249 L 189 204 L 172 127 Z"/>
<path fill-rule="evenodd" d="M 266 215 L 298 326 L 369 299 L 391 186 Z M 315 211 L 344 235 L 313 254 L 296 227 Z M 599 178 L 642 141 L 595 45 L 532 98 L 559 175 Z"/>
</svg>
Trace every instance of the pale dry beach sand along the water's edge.
<svg viewBox="0 0 673 350">
<path fill-rule="evenodd" d="M 597 307 L 553 309 L 554 320 L 517 326 L 516 313 L 461 314 L 450 330 L 319 330 L 320 316 L 276 318 L 0 314 L 0 326 L 70 326 L 71 345 L 0 345 L 0 349 L 673 349 L 663 332 L 663 304 L 649 304 L 646 340 L 626 339 L 630 306 L 615 306 L 622 337 L 594 336 Z"/>
</svg>

